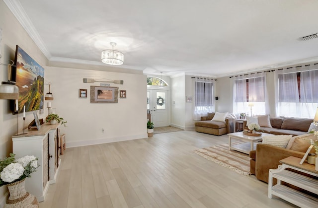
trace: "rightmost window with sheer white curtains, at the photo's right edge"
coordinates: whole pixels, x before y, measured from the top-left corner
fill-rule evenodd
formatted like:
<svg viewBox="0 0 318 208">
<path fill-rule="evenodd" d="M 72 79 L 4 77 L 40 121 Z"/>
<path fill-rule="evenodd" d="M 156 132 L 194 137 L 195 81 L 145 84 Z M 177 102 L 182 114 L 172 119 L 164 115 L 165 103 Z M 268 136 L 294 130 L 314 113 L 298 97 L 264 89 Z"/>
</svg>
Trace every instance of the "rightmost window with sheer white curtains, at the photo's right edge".
<svg viewBox="0 0 318 208">
<path fill-rule="evenodd" d="M 318 66 L 275 71 L 278 77 L 278 116 L 313 118 L 318 103 Z"/>
</svg>

